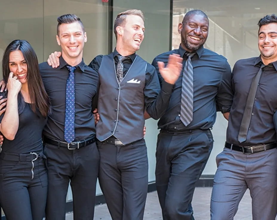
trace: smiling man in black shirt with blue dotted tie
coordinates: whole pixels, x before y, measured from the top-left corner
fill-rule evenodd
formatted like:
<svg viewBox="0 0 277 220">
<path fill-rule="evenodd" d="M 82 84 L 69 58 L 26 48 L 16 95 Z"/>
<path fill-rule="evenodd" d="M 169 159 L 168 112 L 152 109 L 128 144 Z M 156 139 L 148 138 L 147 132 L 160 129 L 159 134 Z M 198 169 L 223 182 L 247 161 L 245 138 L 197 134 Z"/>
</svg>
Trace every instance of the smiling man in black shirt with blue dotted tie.
<svg viewBox="0 0 277 220">
<path fill-rule="evenodd" d="M 46 219 L 65 219 L 69 181 L 74 220 L 93 219 L 99 153 L 92 109 L 99 77 L 83 61 L 87 35 L 76 15 L 58 18 L 56 38 L 62 51 L 59 67 L 54 69 L 47 62 L 39 65 L 52 108 L 43 132 L 48 169 Z M 69 99 L 75 99 L 71 107 Z"/>
</svg>

